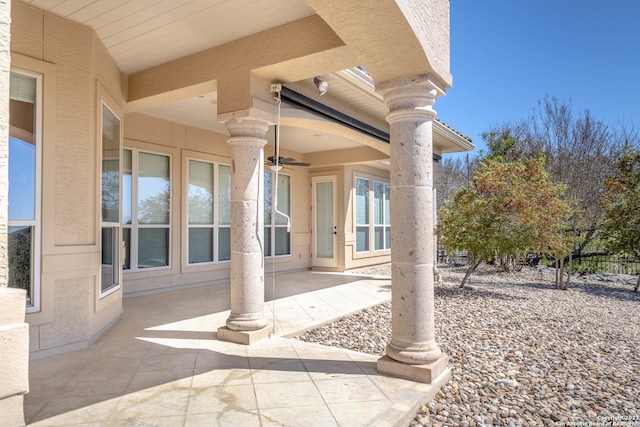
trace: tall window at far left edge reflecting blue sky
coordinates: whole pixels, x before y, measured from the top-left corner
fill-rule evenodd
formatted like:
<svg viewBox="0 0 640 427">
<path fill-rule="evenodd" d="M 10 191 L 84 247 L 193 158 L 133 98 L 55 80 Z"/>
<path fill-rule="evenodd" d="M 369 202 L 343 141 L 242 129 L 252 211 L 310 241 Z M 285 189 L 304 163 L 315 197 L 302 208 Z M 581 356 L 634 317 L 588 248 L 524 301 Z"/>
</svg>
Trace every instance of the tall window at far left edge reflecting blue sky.
<svg viewBox="0 0 640 427">
<path fill-rule="evenodd" d="M 9 286 L 27 291 L 40 310 L 42 76 L 14 69 L 9 101 Z"/>
</svg>

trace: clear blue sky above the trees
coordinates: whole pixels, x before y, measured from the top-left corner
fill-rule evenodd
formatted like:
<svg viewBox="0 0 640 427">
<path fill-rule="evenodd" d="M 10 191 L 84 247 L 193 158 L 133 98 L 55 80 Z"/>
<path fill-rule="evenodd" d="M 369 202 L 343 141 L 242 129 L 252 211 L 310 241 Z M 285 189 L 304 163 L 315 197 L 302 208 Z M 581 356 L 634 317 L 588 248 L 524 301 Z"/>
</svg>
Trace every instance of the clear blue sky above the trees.
<svg viewBox="0 0 640 427">
<path fill-rule="evenodd" d="M 640 127 L 640 1 L 451 0 L 453 87 L 438 117 L 486 149 L 545 95 Z"/>
</svg>

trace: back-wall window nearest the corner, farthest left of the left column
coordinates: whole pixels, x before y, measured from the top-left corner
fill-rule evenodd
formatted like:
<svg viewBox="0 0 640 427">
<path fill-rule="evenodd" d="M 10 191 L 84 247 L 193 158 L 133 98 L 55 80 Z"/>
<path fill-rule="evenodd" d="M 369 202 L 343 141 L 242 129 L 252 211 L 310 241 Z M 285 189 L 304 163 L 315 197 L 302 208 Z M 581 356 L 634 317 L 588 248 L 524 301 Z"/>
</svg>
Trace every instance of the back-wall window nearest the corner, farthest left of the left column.
<svg viewBox="0 0 640 427">
<path fill-rule="evenodd" d="M 127 149 L 122 163 L 124 269 L 169 267 L 171 158 Z"/>
</svg>

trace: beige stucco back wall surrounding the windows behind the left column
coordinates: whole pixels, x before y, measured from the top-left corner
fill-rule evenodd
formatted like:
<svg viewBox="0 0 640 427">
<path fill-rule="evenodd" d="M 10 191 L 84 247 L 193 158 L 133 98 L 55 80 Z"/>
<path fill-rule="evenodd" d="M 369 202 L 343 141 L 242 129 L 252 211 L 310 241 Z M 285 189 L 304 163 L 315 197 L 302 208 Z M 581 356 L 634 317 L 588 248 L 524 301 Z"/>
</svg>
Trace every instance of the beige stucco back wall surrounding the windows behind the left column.
<svg viewBox="0 0 640 427">
<path fill-rule="evenodd" d="M 229 285 L 229 262 L 189 265 L 187 262 L 187 164 L 189 159 L 229 165 L 228 135 L 131 113 L 124 120 L 124 147 L 171 156 L 171 267 L 124 273 L 127 295 L 207 284 Z M 265 157 L 273 147 L 265 147 Z M 287 152 L 283 155 L 296 153 Z M 266 258 L 265 272 L 309 268 L 309 176 L 306 168 L 286 168 L 291 176 L 291 255 Z"/>
</svg>

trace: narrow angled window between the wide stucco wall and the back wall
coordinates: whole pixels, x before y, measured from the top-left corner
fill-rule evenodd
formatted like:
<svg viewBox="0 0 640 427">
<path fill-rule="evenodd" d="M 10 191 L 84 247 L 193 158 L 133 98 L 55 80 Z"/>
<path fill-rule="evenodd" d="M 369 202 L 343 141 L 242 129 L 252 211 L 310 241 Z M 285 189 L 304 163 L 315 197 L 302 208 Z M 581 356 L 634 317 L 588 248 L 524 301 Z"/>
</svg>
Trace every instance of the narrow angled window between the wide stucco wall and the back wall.
<svg viewBox="0 0 640 427">
<path fill-rule="evenodd" d="M 100 296 L 120 287 L 120 118 L 102 104 Z"/>
</svg>

